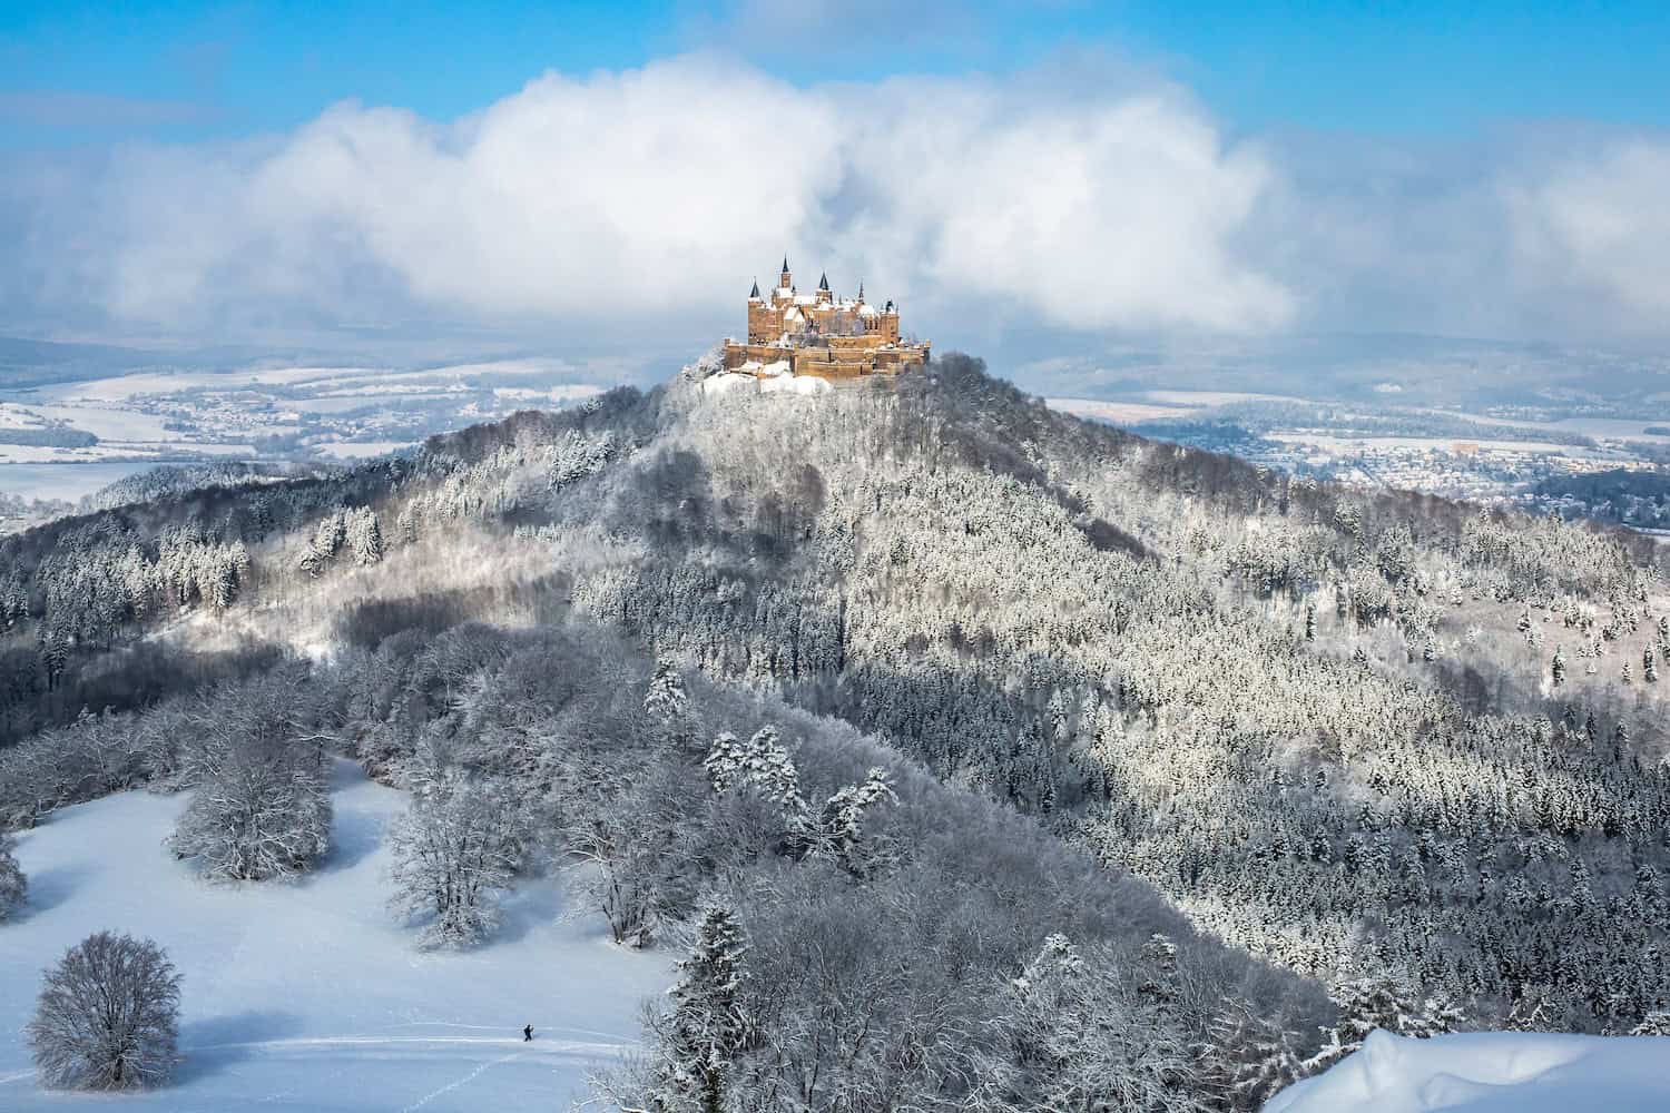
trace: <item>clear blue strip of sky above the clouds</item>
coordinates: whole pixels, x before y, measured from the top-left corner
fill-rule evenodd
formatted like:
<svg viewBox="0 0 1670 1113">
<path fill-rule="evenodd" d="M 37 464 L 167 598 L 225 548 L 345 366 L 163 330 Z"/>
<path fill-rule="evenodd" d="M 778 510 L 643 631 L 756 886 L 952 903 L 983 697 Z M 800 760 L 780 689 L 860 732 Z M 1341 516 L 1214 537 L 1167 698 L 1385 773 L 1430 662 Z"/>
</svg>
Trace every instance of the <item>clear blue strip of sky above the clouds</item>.
<svg viewBox="0 0 1670 1113">
<path fill-rule="evenodd" d="M 762 5 L 765 7 L 765 5 Z M 887 20 L 885 5 L 865 20 Z M 907 5 L 900 5 L 907 8 Z M 1670 123 L 1670 5 L 910 5 L 898 33 L 832 43 L 696 3 L 0 5 L 0 142 L 165 138 L 294 127 L 356 98 L 453 118 L 548 70 L 735 50 L 795 83 L 957 73 L 1109 52 L 1191 87 L 1242 130 L 1453 135 L 1526 118 Z M 797 33 L 797 30 L 805 33 Z M 850 45 L 843 45 L 850 43 Z M 127 110 L 112 100 L 134 102 Z"/>
</svg>

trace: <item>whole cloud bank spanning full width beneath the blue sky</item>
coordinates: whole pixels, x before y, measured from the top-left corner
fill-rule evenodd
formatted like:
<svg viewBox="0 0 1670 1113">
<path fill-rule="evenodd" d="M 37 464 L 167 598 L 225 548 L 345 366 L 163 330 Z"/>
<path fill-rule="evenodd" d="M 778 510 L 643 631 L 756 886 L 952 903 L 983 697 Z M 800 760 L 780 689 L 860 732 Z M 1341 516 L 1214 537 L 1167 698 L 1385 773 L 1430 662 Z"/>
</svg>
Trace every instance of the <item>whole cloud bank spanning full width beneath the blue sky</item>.
<svg viewBox="0 0 1670 1113">
<path fill-rule="evenodd" d="M 827 265 L 935 329 L 1670 335 L 1663 138 L 1227 137 L 1157 80 L 800 88 L 696 55 L 544 75 L 451 123 L 342 103 L 0 170 L 8 324 L 671 335 L 733 325 L 787 250 L 803 285 Z"/>
</svg>

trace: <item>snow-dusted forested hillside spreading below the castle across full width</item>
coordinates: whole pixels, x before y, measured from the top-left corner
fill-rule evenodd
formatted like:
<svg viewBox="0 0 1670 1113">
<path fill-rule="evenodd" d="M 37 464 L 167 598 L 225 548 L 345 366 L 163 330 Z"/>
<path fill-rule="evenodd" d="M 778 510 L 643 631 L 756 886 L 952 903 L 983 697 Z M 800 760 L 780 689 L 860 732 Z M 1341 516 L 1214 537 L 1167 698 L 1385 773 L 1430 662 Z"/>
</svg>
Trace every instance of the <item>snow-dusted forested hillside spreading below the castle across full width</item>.
<svg viewBox="0 0 1670 1113">
<path fill-rule="evenodd" d="M 977 995 L 957 1023 L 1044 1023 L 1027 985 L 1049 985 L 1059 1016 L 1106 996 L 1094 1023 L 1174 1040 L 1156 1051 L 1174 1073 L 1151 1085 L 1219 1106 L 1293 1071 L 1329 1016 L 1298 981 L 1194 943 L 1127 873 L 1207 936 L 1319 980 L 1348 1020 L 1391 1001 L 1430 1028 L 1625 1031 L 1663 1008 L 1670 599 L 1648 541 L 1152 444 L 959 355 L 812 397 L 708 392 L 715 370 L 399 462 L 175 491 L 7 539 L 0 814 L 190 788 L 214 763 L 174 756 L 192 731 L 170 724 L 282 706 L 239 738 L 324 739 L 399 784 L 513 786 L 543 839 L 593 863 L 651 848 L 621 871 L 650 871 L 655 914 L 620 936 L 688 928 L 725 893 L 772 985 L 803 956 L 793 918 L 828 921 L 838 893 L 940 961 L 959 944 L 910 894 L 960 869 L 992 908 L 1034 906 L 1020 878 L 1060 853 L 1037 904 L 1055 911 L 997 914 L 1007 941 L 970 959 L 1020 998 Z M 651 671 L 713 711 L 650 714 Z M 240 687 L 281 682 L 307 698 Z M 660 779 L 628 773 L 645 761 Z M 715 791 L 740 811 L 678 829 L 700 811 L 680 801 Z M 888 793 L 908 823 L 882 819 Z M 979 823 L 945 819 L 975 801 Z M 875 858 L 840 836 L 840 816 L 870 829 L 860 814 L 885 834 Z M 1000 859 L 952 869 L 972 843 Z M 1101 876 L 1072 864 L 1087 856 Z M 875 924 L 852 929 L 872 939 L 845 939 L 855 954 L 893 953 Z M 1086 963 L 1102 973 L 1062 973 Z M 890 1001 L 922 1000 L 922 959 L 888 969 Z M 812 1031 L 770 1006 L 752 1015 Z M 1264 1013 L 1274 1030 L 1249 1020 Z M 924 1021 L 900 1006 L 885 1023 Z M 913 1100 L 985 1108 L 1035 1108 L 1070 1085 L 1069 1060 L 1096 1070 L 1059 1031 L 1005 1033 L 980 1063 L 883 1060 Z M 675 1046 L 678 1025 L 656 1038 Z M 1037 1046 L 1054 1073 L 1015 1051 Z M 772 1095 L 800 1051 L 765 1055 L 755 1033 L 731 1053 Z"/>
</svg>

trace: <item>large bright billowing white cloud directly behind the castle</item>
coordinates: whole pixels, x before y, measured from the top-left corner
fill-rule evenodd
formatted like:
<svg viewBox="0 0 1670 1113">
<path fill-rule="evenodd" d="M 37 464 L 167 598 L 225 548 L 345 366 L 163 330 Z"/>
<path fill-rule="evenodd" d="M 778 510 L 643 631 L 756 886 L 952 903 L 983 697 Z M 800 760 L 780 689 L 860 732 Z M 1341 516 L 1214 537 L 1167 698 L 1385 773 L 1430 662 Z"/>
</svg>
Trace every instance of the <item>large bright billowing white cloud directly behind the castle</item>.
<svg viewBox="0 0 1670 1113">
<path fill-rule="evenodd" d="M 1293 299 L 1231 240 L 1269 175 L 1164 92 L 797 88 L 685 57 L 546 75 L 453 125 L 344 103 L 271 144 L 134 150 L 45 202 L 99 229 L 45 265 L 164 327 L 436 312 L 655 329 L 735 315 L 787 249 L 918 305 L 1266 329 Z"/>
</svg>

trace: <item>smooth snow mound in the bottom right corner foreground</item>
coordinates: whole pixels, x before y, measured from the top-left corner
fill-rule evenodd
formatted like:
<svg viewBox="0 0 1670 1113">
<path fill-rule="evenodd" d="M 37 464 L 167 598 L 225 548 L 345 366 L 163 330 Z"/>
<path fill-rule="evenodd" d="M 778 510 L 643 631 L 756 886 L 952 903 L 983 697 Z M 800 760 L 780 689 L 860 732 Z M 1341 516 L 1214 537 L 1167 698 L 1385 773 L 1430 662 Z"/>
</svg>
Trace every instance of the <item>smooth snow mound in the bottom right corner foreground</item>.
<svg viewBox="0 0 1670 1113">
<path fill-rule="evenodd" d="M 1663 1113 L 1670 1038 L 1518 1031 L 1408 1040 L 1373 1031 L 1264 1113 Z"/>
</svg>

